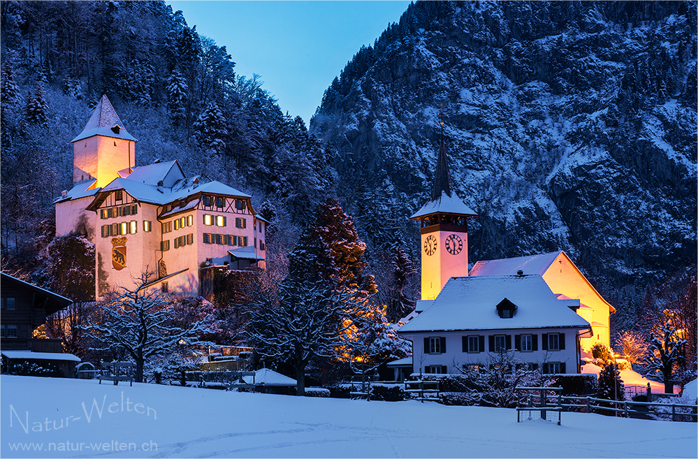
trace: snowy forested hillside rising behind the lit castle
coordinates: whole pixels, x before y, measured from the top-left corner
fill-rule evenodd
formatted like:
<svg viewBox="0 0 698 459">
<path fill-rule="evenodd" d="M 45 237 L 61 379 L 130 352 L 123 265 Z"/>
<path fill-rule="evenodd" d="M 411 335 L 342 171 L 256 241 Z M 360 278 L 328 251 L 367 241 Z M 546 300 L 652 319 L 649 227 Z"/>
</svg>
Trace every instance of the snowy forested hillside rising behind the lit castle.
<svg viewBox="0 0 698 459">
<path fill-rule="evenodd" d="M 279 253 L 333 194 L 331 156 L 303 120 L 165 3 L 3 1 L 0 19 L 3 270 L 46 281 L 52 201 L 73 186 L 71 140 L 102 94 L 138 138 L 138 165 L 177 159 L 252 194 Z"/>
</svg>

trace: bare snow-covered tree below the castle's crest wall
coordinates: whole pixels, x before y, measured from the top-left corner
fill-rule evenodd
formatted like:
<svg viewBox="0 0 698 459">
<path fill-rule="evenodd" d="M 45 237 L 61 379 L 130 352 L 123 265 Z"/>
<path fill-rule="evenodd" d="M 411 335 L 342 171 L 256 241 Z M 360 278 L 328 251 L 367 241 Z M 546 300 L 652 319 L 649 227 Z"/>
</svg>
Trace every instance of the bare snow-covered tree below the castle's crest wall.
<svg viewBox="0 0 698 459">
<path fill-rule="evenodd" d="M 100 323 L 85 327 L 89 336 L 101 343 L 96 350 L 125 351 L 136 362 L 136 381 L 143 382 L 143 366 L 152 356 L 175 348 L 180 340 L 196 342 L 196 335 L 206 329 L 206 321 L 196 321 L 189 328 L 173 326 L 166 300 L 157 289 L 147 285 L 152 275 L 145 273 L 131 289 L 99 305 Z"/>
</svg>

